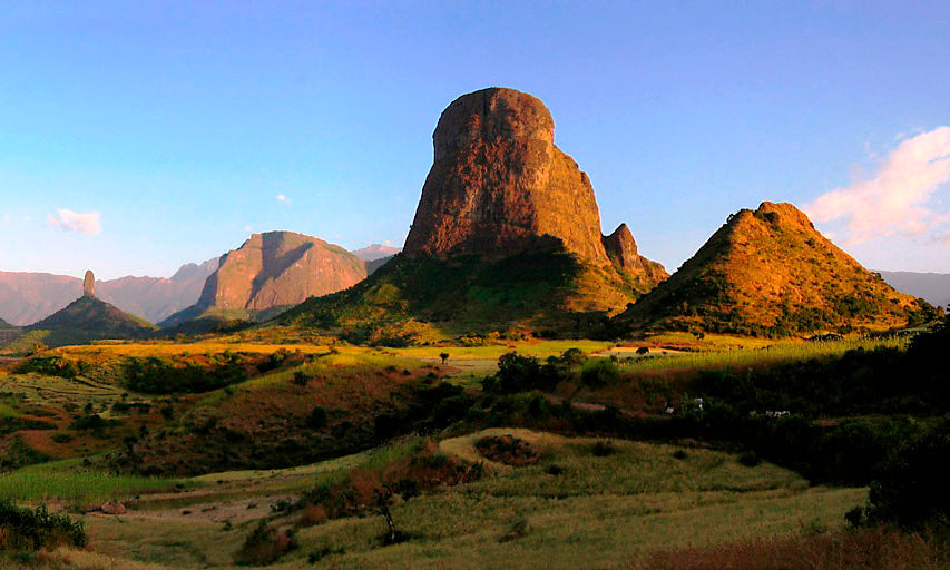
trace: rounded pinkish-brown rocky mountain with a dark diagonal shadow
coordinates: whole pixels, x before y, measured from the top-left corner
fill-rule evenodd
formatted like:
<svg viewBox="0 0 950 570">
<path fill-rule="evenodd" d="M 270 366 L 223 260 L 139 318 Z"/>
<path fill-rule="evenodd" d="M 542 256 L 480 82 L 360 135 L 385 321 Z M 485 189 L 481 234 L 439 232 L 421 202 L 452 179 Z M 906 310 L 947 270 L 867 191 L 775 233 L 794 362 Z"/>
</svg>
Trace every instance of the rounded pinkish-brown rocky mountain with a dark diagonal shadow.
<svg viewBox="0 0 950 570">
<path fill-rule="evenodd" d="M 254 318 L 352 286 L 365 264 L 340 246 L 293 232 L 254 234 L 221 257 L 195 305 L 163 321 L 177 326 L 202 316 Z"/>
</svg>

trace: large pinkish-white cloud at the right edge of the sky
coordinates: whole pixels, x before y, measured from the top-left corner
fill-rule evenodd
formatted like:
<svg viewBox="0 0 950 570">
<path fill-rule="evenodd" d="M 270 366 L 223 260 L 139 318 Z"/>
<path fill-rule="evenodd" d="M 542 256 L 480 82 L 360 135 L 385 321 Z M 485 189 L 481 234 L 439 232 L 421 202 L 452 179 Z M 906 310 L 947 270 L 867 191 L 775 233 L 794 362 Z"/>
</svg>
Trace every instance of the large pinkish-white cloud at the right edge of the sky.
<svg viewBox="0 0 950 570">
<path fill-rule="evenodd" d="M 946 222 L 934 194 L 950 181 L 950 127 L 903 140 L 870 179 L 820 196 L 805 207 L 815 222 L 845 222 L 848 242 L 901 234 L 934 235 Z"/>
</svg>

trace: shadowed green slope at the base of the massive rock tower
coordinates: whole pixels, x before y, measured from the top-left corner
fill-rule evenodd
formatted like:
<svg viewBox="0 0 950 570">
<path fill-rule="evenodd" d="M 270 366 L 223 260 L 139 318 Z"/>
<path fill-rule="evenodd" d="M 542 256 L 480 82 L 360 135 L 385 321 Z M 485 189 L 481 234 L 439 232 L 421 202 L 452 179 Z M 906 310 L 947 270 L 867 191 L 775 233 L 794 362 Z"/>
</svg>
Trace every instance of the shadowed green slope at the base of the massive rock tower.
<svg viewBox="0 0 950 570">
<path fill-rule="evenodd" d="M 579 336 L 644 292 L 614 266 L 581 263 L 560 249 L 501 259 L 396 255 L 355 286 L 310 298 L 274 321 L 343 331 L 351 342 L 407 344 L 427 334 L 532 331 Z"/>
</svg>

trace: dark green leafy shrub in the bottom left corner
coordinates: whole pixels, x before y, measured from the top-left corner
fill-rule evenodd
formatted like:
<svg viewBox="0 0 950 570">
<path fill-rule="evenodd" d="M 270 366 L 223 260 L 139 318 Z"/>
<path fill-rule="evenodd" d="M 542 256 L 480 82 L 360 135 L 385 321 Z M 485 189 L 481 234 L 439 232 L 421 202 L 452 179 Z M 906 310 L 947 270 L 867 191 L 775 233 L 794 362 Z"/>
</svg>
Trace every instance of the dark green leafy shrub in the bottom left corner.
<svg viewBox="0 0 950 570">
<path fill-rule="evenodd" d="M 33 510 L 0 500 L 0 550 L 40 550 L 89 542 L 81 521 L 51 513 L 45 504 Z"/>
</svg>

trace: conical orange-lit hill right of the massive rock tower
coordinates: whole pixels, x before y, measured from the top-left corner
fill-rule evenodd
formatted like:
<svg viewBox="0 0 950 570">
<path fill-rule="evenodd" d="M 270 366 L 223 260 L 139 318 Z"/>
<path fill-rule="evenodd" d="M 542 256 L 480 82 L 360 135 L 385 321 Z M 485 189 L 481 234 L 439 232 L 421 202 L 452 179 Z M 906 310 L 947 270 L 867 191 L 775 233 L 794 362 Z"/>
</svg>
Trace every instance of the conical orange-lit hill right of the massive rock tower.
<svg viewBox="0 0 950 570">
<path fill-rule="evenodd" d="M 729 216 L 696 255 L 616 324 L 787 335 L 883 330 L 936 314 L 862 267 L 793 205 L 765 202 Z"/>
</svg>

